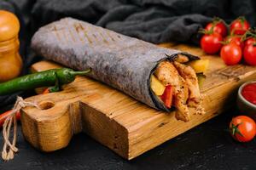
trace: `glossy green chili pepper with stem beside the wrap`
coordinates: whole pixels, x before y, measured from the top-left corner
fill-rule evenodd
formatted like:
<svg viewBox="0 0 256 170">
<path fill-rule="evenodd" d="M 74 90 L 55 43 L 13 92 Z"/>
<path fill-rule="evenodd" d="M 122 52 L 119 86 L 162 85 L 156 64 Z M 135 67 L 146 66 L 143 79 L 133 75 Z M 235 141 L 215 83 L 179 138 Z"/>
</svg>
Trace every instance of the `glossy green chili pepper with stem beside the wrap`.
<svg viewBox="0 0 256 170">
<path fill-rule="evenodd" d="M 68 68 L 52 69 L 18 77 L 9 82 L 0 83 L 0 95 L 12 94 L 21 90 L 32 88 L 50 87 L 50 92 L 59 91 L 60 86 L 73 82 L 75 77 L 85 75 L 87 71 L 73 71 Z"/>
</svg>

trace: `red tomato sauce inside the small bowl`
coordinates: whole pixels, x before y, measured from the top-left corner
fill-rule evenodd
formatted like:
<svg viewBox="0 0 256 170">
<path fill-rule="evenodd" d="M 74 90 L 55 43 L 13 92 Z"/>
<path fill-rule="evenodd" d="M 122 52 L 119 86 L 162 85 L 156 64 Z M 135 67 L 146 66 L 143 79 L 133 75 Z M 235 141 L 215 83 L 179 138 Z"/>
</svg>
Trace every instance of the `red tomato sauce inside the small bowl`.
<svg viewBox="0 0 256 170">
<path fill-rule="evenodd" d="M 256 82 L 247 84 L 241 89 L 241 95 L 253 105 L 256 105 Z"/>
</svg>

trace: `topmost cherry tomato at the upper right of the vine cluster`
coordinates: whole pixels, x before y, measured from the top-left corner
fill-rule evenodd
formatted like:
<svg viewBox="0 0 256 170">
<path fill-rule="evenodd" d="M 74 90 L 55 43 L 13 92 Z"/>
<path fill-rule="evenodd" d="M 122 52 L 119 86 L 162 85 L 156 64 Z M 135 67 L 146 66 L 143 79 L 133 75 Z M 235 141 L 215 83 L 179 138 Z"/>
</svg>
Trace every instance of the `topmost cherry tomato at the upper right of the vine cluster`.
<svg viewBox="0 0 256 170">
<path fill-rule="evenodd" d="M 230 25 L 230 31 L 236 35 L 243 35 L 249 28 L 250 24 L 244 17 L 234 20 Z"/>
</svg>

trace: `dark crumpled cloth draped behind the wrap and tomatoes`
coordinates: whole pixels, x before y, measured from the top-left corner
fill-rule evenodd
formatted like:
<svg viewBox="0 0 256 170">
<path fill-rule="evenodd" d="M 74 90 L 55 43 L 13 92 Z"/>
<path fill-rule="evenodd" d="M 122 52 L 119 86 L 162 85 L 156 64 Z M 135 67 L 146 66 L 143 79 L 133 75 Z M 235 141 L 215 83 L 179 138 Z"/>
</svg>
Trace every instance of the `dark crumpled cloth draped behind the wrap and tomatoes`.
<svg viewBox="0 0 256 170">
<path fill-rule="evenodd" d="M 227 22 L 243 15 L 255 26 L 253 0 L 2 0 L 0 9 L 20 19 L 20 54 L 28 72 L 41 59 L 30 49 L 30 39 L 40 26 L 71 16 L 148 42 L 198 43 L 197 31 L 218 16 Z M 28 96 L 27 92 L 17 93 Z M 0 96 L 0 108 L 15 96 Z"/>
</svg>

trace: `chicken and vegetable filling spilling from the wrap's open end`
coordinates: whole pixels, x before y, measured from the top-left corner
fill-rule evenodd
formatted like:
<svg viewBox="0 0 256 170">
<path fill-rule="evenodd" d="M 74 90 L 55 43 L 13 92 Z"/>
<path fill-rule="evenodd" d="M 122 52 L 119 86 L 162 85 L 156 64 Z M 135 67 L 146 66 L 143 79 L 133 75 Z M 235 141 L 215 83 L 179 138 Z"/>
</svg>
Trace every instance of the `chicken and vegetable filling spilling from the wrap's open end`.
<svg viewBox="0 0 256 170">
<path fill-rule="evenodd" d="M 181 62 L 162 61 L 151 76 L 150 88 L 162 100 L 166 108 L 174 106 L 176 117 L 184 122 L 189 121 L 189 107 L 196 112 L 203 112 L 201 107 L 200 88 L 206 79 L 204 73 L 209 65 L 208 59 Z M 185 65 L 186 64 L 186 65 Z"/>
</svg>

